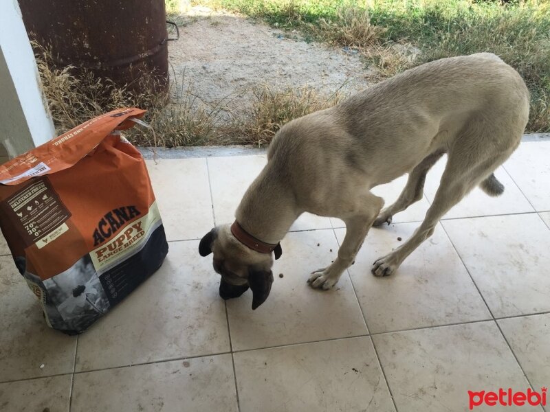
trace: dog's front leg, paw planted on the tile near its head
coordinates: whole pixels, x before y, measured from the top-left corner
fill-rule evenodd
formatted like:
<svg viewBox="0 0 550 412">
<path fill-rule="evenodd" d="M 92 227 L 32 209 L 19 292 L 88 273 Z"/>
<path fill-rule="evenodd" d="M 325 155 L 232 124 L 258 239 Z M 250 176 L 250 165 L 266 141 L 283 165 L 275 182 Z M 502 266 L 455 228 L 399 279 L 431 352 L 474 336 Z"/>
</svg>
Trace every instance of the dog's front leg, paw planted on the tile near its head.
<svg viewBox="0 0 550 412">
<path fill-rule="evenodd" d="M 384 205 L 382 198 L 367 192 L 364 196 L 355 198 L 360 209 L 349 211 L 347 214 L 336 216 L 346 223 L 346 236 L 338 249 L 338 256 L 332 264 L 326 268 L 318 269 L 311 273 L 307 283 L 312 288 L 330 289 L 338 282 L 342 273 L 349 268 L 355 255 L 364 242 L 366 233 L 371 229 L 373 222 Z"/>
</svg>

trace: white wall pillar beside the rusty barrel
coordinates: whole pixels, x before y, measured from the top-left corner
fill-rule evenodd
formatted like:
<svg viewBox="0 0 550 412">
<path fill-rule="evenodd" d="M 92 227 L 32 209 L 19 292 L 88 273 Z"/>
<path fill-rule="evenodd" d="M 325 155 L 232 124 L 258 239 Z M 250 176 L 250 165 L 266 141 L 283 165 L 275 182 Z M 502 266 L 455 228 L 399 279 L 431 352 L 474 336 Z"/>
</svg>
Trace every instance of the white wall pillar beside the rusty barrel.
<svg viewBox="0 0 550 412">
<path fill-rule="evenodd" d="M 0 0 L 0 157 L 55 137 L 17 0 Z"/>
</svg>

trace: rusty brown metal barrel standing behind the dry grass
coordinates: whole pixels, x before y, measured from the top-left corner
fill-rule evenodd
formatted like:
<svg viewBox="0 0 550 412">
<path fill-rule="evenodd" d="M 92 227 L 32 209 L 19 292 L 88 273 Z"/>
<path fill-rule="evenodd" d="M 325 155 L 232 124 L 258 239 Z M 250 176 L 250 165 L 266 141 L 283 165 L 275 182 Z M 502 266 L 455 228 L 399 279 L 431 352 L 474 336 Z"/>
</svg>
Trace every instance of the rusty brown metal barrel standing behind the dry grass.
<svg viewBox="0 0 550 412">
<path fill-rule="evenodd" d="M 168 85 L 164 0 L 19 0 L 31 38 L 49 46 L 59 67 L 87 69 L 143 91 Z M 146 76 L 144 76 L 146 75 Z"/>
</svg>

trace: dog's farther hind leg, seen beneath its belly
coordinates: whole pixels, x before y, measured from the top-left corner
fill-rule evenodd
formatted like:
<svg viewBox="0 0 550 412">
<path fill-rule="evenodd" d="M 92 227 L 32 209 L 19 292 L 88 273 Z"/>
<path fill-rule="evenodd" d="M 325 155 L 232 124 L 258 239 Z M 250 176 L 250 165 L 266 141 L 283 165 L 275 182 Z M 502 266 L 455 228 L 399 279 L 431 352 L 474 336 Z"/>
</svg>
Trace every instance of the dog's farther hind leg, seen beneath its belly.
<svg viewBox="0 0 550 412">
<path fill-rule="evenodd" d="M 393 205 L 385 207 L 376 220 L 373 226 L 380 226 L 384 223 L 391 223 L 393 215 L 399 211 L 405 210 L 407 207 L 419 201 L 423 196 L 424 182 L 428 170 L 443 156 L 444 151 L 437 151 L 428 155 L 423 159 L 408 175 L 407 184 Z"/>
</svg>

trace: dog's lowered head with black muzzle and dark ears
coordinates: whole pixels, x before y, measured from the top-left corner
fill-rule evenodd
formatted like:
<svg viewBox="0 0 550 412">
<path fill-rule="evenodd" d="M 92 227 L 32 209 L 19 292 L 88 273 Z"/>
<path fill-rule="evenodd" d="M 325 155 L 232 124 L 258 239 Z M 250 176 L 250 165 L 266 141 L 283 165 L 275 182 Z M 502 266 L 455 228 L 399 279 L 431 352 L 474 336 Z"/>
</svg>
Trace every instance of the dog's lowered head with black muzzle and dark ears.
<svg viewBox="0 0 550 412">
<path fill-rule="evenodd" d="M 281 255 L 281 247 L 275 251 Z M 259 253 L 242 244 L 231 233 L 230 225 L 214 227 L 199 243 L 201 256 L 214 254 L 214 271 L 221 275 L 219 295 L 223 299 L 239 297 L 252 290 L 252 309 L 263 304 L 273 283 L 271 253 Z"/>
</svg>

